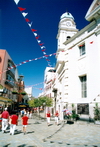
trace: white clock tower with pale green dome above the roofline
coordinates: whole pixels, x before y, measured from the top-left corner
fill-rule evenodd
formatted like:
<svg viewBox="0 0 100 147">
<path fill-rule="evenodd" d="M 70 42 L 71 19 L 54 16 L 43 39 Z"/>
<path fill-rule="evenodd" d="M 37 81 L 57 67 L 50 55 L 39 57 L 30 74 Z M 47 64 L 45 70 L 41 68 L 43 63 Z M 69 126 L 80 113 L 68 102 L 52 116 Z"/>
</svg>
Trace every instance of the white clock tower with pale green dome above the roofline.
<svg viewBox="0 0 100 147">
<path fill-rule="evenodd" d="M 74 22 L 74 17 L 71 13 L 66 12 L 61 15 L 60 22 L 58 26 L 58 51 L 64 50 L 64 42 L 71 38 L 78 32 Z"/>
</svg>

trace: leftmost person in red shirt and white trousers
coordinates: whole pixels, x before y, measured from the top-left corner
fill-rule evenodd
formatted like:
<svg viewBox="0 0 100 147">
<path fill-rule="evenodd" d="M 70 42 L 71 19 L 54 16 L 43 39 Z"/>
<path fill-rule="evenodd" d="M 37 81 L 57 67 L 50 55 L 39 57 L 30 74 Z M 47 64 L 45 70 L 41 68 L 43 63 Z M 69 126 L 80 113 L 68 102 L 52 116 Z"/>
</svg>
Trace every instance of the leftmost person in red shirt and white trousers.
<svg viewBox="0 0 100 147">
<path fill-rule="evenodd" d="M 8 127 L 8 120 L 9 120 L 9 112 L 7 111 L 7 108 L 5 108 L 1 117 L 2 117 L 2 133 L 5 133 Z"/>
</svg>

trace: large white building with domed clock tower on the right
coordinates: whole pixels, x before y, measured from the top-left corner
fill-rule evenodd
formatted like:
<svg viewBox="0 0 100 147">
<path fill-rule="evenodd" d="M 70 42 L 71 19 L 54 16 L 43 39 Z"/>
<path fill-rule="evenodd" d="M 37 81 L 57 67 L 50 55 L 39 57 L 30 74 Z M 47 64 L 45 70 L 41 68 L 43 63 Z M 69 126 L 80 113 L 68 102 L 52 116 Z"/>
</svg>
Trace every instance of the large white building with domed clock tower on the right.
<svg viewBox="0 0 100 147">
<path fill-rule="evenodd" d="M 85 19 L 90 23 L 78 31 L 74 17 L 61 15 L 57 34 L 56 80 L 53 81 L 55 108 L 76 109 L 83 119 L 94 118 L 100 105 L 100 1 L 94 0 Z"/>
</svg>

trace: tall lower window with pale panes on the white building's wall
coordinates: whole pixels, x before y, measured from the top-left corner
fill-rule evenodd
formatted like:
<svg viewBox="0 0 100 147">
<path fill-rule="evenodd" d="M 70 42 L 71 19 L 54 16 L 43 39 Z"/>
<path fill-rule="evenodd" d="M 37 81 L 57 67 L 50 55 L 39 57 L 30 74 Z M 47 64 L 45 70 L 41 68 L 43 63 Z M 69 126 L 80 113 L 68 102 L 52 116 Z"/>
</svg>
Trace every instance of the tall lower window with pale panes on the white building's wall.
<svg viewBox="0 0 100 147">
<path fill-rule="evenodd" d="M 86 76 L 80 77 L 80 81 L 81 81 L 81 96 L 82 98 L 86 98 L 87 97 L 87 77 Z"/>
</svg>

